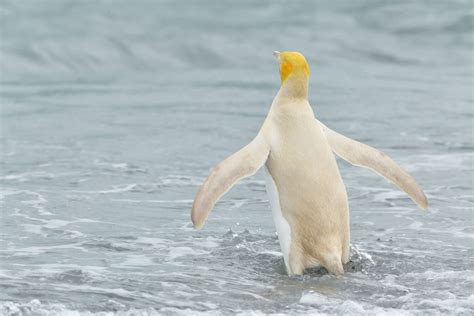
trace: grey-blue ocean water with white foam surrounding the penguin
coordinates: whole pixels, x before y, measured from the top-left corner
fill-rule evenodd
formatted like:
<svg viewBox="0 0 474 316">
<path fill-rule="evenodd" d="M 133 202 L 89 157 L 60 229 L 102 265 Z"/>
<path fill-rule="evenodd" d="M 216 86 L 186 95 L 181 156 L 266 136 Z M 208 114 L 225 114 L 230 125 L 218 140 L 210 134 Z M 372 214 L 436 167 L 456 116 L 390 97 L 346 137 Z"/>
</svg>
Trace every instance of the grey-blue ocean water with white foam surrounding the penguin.
<svg viewBox="0 0 474 316">
<path fill-rule="evenodd" d="M 0 314 L 474 314 L 471 1 L 1 1 Z M 429 201 L 338 160 L 341 277 L 284 272 L 262 172 L 192 228 L 303 52 L 330 128 Z"/>
</svg>

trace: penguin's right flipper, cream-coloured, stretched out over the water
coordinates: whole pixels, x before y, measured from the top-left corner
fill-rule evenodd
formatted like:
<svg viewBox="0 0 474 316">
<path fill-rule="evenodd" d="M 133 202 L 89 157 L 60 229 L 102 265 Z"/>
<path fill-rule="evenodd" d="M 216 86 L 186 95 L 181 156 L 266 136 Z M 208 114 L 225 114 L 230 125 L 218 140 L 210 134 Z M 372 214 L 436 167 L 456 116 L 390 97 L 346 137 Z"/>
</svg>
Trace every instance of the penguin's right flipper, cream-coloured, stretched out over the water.
<svg viewBox="0 0 474 316">
<path fill-rule="evenodd" d="M 369 168 L 393 182 L 422 209 L 428 208 L 428 199 L 418 183 L 385 153 L 345 137 L 319 122 L 329 146 L 339 157 L 352 165 Z"/>
</svg>

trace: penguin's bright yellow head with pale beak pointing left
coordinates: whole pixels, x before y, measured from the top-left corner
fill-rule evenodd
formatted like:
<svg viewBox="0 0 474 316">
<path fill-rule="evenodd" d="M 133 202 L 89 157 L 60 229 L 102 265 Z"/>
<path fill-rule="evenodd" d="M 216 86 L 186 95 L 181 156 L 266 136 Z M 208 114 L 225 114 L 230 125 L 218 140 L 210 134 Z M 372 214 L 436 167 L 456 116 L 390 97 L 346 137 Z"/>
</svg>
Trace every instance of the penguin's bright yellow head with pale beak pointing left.
<svg viewBox="0 0 474 316">
<path fill-rule="evenodd" d="M 273 55 L 280 63 L 280 78 L 283 84 L 290 76 L 309 78 L 309 66 L 303 54 L 299 52 L 278 52 Z"/>
</svg>

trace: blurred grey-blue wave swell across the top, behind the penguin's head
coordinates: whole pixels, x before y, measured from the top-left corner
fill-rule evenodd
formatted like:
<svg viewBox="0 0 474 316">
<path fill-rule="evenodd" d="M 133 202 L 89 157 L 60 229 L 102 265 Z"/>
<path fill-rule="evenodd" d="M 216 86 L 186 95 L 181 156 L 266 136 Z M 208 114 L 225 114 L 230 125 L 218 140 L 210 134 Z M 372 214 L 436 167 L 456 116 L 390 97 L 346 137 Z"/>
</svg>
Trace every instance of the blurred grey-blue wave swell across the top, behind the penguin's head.
<svg viewBox="0 0 474 316">
<path fill-rule="evenodd" d="M 248 66 L 248 60 L 261 68 L 271 59 L 271 47 L 287 45 L 275 39 L 269 29 L 281 32 L 280 38 L 292 38 L 292 44 L 306 48 L 309 55 L 323 51 L 326 63 L 341 58 L 357 64 L 361 56 L 354 52 L 361 46 L 377 51 L 369 50 L 362 56 L 382 64 L 430 67 L 438 58 L 433 51 L 470 54 L 469 1 L 449 6 L 442 2 L 386 5 L 374 1 L 357 5 L 305 3 L 307 10 L 300 6 L 241 3 L 233 10 L 246 14 L 232 15 L 223 4 L 209 2 L 188 3 L 184 9 L 166 1 L 152 5 L 122 1 L 115 6 L 104 3 L 95 10 L 75 4 L 74 10 L 59 14 L 53 2 L 45 2 L 41 6 L 44 10 L 17 1 L 2 2 L 1 80 L 137 80 L 166 76 L 164 73 L 240 68 Z M 219 8 L 218 13 L 215 10 Z M 300 14 L 288 16 L 288 10 Z M 25 18 L 20 20 L 19 16 Z M 281 21 L 292 27 L 281 29 Z M 252 32 L 254 40 L 242 37 L 245 32 Z M 380 43 L 383 52 L 377 49 Z M 250 47 L 268 47 L 268 52 Z"/>
</svg>

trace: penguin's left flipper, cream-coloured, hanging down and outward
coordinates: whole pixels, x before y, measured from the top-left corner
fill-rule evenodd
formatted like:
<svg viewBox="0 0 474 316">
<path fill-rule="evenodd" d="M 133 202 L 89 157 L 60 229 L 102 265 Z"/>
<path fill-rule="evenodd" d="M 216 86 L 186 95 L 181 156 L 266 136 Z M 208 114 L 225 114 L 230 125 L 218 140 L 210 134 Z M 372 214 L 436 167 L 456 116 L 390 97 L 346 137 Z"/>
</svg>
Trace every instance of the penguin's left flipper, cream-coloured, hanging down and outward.
<svg viewBox="0 0 474 316">
<path fill-rule="evenodd" d="M 262 135 L 220 162 L 207 177 L 193 202 L 191 220 L 202 228 L 216 202 L 242 178 L 257 172 L 267 161 L 270 147 Z"/>
</svg>

